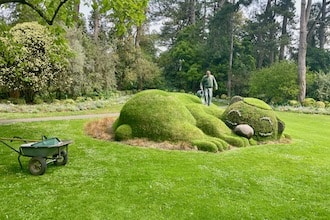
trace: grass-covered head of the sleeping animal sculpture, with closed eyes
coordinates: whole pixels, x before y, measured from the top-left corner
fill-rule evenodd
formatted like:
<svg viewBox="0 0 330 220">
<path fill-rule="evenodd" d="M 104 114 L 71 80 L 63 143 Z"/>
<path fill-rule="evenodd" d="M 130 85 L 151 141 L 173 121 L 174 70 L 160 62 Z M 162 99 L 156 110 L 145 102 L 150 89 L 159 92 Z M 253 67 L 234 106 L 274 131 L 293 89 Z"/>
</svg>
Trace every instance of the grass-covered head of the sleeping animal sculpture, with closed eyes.
<svg viewBox="0 0 330 220">
<path fill-rule="evenodd" d="M 277 140 L 285 127 L 269 105 L 255 98 L 233 97 L 222 120 L 231 129 L 239 124 L 250 125 L 254 129 L 253 139 L 257 141 Z"/>
</svg>

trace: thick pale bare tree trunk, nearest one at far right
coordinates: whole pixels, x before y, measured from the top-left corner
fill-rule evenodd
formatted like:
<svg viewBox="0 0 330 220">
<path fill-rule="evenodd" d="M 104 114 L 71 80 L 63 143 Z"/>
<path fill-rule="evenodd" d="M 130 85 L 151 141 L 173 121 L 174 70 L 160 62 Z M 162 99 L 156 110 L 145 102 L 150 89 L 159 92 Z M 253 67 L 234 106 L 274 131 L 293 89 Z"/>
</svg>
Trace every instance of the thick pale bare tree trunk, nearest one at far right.
<svg viewBox="0 0 330 220">
<path fill-rule="evenodd" d="M 298 52 L 298 83 L 299 96 L 301 103 L 306 97 L 306 52 L 307 52 L 307 23 L 310 15 L 312 0 L 301 0 L 300 11 L 300 34 L 299 34 L 299 52 Z"/>
</svg>

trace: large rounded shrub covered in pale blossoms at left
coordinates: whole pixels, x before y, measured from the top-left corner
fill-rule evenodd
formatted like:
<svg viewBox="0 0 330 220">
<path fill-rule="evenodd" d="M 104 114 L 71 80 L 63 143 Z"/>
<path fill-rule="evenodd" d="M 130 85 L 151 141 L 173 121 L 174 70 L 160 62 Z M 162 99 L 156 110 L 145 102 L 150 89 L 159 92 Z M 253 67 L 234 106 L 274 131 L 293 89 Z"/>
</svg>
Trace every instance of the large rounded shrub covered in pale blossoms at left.
<svg viewBox="0 0 330 220">
<path fill-rule="evenodd" d="M 0 47 L 0 87 L 7 92 L 32 102 L 37 92 L 70 84 L 68 46 L 46 27 L 36 22 L 17 24 L 0 38 Z"/>
</svg>

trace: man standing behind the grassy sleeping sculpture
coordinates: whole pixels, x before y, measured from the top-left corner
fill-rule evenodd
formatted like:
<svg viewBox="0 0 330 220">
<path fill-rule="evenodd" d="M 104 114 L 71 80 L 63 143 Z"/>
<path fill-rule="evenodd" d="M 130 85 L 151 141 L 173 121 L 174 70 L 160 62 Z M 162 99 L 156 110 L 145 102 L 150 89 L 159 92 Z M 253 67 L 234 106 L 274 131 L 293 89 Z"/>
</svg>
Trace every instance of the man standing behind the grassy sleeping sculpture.
<svg viewBox="0 0 330 220">
<path fill-rule="evenodd" d="M 212 103 L 213 97 L 213 88 L 218 89 L 218 83 L 215 80 L 215 77 L 211 74 L 211 71 L 207 70 L 200 82 L 200 88 L 204 91 L 204 100 L 205 105 L 210 106 Z"/>
</svg>

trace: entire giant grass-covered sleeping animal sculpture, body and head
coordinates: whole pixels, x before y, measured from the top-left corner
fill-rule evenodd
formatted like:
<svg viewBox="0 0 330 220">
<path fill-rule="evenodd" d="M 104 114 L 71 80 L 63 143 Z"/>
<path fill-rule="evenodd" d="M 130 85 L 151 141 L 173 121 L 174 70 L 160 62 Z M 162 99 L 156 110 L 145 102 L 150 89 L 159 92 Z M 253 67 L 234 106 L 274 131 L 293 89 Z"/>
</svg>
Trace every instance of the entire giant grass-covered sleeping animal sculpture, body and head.
<svg viewBox="0 0 330 220">
<path fill-rule="evenodd" d="M 147 138 L 158 142 L 184 141 L 199 150 L 210 152 L 223 151 L 230 146 L 245 147 L 263 138 L 279 138 L 280 132 L 274 132 L 278 130 L 278 125 L 264 125 L 265 121 L 278 122 L 271 109 L 260 109 L 260 106 L 249 104 L 248 107 L 258 108 L 258 115 L 262 115 L 262 120 L 258 116 L 259 123 L 249 122 L 245 120 L 248 118 L 246 115 L 256 114 L 256 111 L 245 105 L 238 105 L 239 102 L 231 103 L 225 110 L 214 104 L 203 105 L 197 96 L 191 94 L 145 90 L 126 102 L 112 125 L 112 130 L 118 141 L 133 138 Z M 266 103 L 264 105 L 268 106 Z M 250 110 L 245 113 L 245 109 Z M 234 116 L 234 112 L 243 117 Z M 235 127 L 243 122 L 253 130 L 254 134 L 250 137 L 234 132 Z M 258 127 L 259 124 L 262 128 Z M 265 136 L 262 136 L 263 133 Z"/>
</svg>

